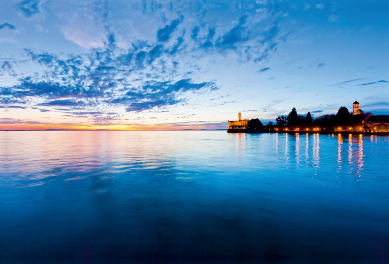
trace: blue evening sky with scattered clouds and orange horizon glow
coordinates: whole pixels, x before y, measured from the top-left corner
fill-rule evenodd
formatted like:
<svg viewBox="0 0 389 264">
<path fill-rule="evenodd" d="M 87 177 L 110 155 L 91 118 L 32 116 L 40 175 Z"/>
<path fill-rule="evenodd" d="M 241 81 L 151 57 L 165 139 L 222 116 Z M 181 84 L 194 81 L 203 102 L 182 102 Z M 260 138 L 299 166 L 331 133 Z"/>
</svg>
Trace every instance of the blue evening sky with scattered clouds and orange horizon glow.
<svg viewBox="0 0 389 264">
<path fill-rule="evenodd" d="M 386 0 L 9 0 L 0 129 L 226 129 L 389 114 Z"/>
</svg>

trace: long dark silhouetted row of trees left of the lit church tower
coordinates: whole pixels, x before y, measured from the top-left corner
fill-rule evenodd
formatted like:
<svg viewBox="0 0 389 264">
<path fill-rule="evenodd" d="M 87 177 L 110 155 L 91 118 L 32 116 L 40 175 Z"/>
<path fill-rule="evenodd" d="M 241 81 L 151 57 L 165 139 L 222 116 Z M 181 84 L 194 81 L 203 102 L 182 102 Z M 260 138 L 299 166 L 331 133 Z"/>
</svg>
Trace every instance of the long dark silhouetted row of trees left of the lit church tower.
<svg viewBox="0 0 389 264">
<path fill-rule="evenodd" d="M 298 115 L 296 108 L 293 107 L 292 111 L 287 116 L 279 116 L 276 118 L 277 125 L 317 125 L 322 127 L 352 125 L 360 123 L 362 120 L 361 114 L 353 116 L 349 110 L 342 106 L 339 108 L 336 114 L 324 114 L 316 118 L 312 118 L 310 112 L 306 116 Z M 273 122 L 269 122 L 269 125 L 273 125 Z"/>
</svg>

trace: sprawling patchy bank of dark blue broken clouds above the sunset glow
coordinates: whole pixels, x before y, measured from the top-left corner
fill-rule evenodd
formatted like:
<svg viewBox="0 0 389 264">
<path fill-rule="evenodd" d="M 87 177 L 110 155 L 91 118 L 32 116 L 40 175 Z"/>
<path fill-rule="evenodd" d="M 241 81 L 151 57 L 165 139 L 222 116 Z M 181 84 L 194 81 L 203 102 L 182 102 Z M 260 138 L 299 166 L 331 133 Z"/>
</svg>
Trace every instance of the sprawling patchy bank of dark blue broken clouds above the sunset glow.
<svg viewBox="0 0 389 264">
<path fill-rule="evenodd" d="M 40 6 L 39 0 L 23 0 L 19 8 L 25 17 L 32 17 L 42 13 Z M 141 112 L 183 103 L 187 100 L 185 93 L 217 89 L 215 81 L 183 78 L 184 72 L 200 71 L 196 67 L 180 73 L 179 67 L 188 64 L 183 58 L 190 58 L 192 63 L 193 58 L 212 56 L 215 50 L 233 52 L 246 61 L 256 62 L 276 51 L 278 23 L 282 17 L 268 11 L 236 15 L 232 25 L 227 23 L 224 27 L 201 19 L 184 21 L 183 15 L 175 15 L 156 26 L 153 38 L 135 39 L 127 48 L 120 47 L 119 33 L 110 31 L 109 24 L 105 24 L 104 46 L 90 49 L 86 54 L 58 55 L 25 49 L 23 63 L 38 64 L 44 70 L 41 75 L 18 75 L 12 63 L 4 62 L 1 71 L 12 74 L 16 84 L 0 86 L 0 105 L 23 109 L 43 101 L 35 106 L 67 107 L 63 111 L 88 107 L 90 111 L 93 106 L 108 104 L 128 112 Z M 104 20 L 108 13 L 102 16 Z M 5 28 L 15 26 L 0 25 L 0 29 Z M 190 34 L 185 35 L 185 30 Z M 97 108 L 91 111 L 94 110 Z"/>
</svg>

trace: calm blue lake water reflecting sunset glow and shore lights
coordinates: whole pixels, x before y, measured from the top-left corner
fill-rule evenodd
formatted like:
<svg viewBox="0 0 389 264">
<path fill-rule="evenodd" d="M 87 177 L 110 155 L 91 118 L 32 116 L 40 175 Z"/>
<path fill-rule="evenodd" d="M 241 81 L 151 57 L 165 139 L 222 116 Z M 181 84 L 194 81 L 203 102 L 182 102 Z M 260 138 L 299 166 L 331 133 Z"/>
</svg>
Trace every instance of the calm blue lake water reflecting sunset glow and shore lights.
<svg viewBox="0 0 389 264">
<path fill-rule="evenodd" d="M 388 136 L 0 132 L 0 148 L 0 261 L 388 262 Z"/>
</svg>

